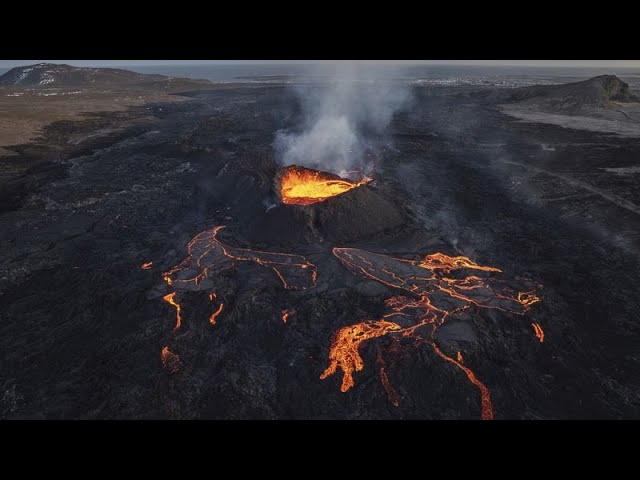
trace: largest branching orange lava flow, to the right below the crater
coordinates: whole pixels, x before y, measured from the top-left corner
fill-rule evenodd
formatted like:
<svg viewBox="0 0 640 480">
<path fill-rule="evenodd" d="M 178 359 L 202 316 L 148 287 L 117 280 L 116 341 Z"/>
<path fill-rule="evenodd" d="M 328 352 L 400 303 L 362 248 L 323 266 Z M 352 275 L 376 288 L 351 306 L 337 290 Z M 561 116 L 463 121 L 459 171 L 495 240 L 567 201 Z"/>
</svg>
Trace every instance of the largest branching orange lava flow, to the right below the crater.
<svg viewBox="0 0 640 480">
<path fill-rule="evenodd" d="M 334 335 L 329 351 L 329 366 L 321 379 L 334 374 L 338 367 L 342 370 L 341 391 L 354 386 L 353 373 L 364 368 L 359 349 L 364 342 L 389 334 L 406 337 L 416 334 L 418 329 L 429 332 L 433 351 L 443 360 L 455 365 L 480 390 L 481 418 L 493 418 L 493 405 L 489 389 L 476 377 L 475 373 L 463 365 L 462 354 L 457 359 L 445 354 L 437 345 L 435 333 L 447 319 L 470 306 L 492 308 L 524 315 L 531 305 L 540 301 L 533 291 L 515 292 L 488 274 L 501 270 L 479 265 L 467 257 L 450 257 L 441 253 L 427 255 L 421 260 L 405 260 L 387 255 L 367 252 L 354 248 L 334 248 L 333 254 L 351 271 L 378 281 L 388 287 L 400 289 L 404 295 L 387 299 L 385 304 L 391 312 L 380 320 L 366 320 L 343 327 Z M 459 271 L 483 272 L 484 277 L 472 274 L 461 278 L 449 276 Z M 460 275 L 456 275 L 460 277 Z M 396 322 L 413 319 L 409 326 Z M 402 323 L 405 325 L 405 323 Z M 535 328 L 535 327 L 534 327 Z M 381 381 L 385 384 L 386 373 Z M 388 379 L 386 379 L 388 383 Z M 387 387 L 385 387 L 387 389 Z"/>
</svg>

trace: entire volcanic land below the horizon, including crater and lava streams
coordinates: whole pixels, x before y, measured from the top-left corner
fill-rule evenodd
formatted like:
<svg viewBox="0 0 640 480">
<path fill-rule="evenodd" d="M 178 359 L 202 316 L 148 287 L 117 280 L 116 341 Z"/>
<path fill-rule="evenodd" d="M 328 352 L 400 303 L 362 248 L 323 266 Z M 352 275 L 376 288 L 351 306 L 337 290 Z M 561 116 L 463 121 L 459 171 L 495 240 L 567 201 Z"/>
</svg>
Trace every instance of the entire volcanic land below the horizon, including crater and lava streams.
<svg viewBox="0 0 640 480">
<path fill-rule="evenodd" d="M 10 70 L 0 418 L 640 418 L 632 87 Z"/>
</svg>

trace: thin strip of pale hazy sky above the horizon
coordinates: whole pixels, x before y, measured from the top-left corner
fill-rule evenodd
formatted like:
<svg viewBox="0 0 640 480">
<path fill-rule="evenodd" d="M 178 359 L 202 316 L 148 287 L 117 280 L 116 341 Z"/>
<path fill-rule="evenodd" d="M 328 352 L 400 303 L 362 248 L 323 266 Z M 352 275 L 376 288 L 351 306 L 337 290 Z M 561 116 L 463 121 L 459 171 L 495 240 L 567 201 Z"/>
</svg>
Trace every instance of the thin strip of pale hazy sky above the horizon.
<svg viewBox="0 0 640 480">
<path fill-rule="evenodd" d="M 339 60 L 349 61 L 349 60 Z M 128 65 L 257 65 L 264 63 L 307 64 L 334 63 L 335 60 L 0 60 L 0 68 L 33 63 L 68 63 L 77 66 L 126 67 Z M 514 65 L 539 67 L 631 67 L 640 68 L 640 60 L 366 60 L 382 65 Z"/>
</svg>

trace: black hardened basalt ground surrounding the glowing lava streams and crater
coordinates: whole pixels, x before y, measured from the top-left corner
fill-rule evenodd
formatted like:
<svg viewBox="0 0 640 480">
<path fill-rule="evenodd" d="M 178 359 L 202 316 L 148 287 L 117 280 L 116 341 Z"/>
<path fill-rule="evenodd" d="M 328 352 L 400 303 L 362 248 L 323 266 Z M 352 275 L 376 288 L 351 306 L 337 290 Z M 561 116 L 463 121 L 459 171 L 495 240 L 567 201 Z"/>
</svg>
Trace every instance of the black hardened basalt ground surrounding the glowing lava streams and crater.
<svg viewBox="0 0 640 480">
<path fill-rule="evenodd" d="M 430 89 L 406 125 L 394 122 L 397 152 L 385 152 L 377 185 L 307 207 L 278 204 L 274 193 L 271 142 L 283 121 L 271 112 L 296 102 L 284 87 L 141 107 L 131 118 L 144 130 L 100 143 L 68 144 L 65 132 L 76 135 L 80 124 L 60 124 L 5 157 L 5 166 L 30 170 L 10 192 L 22 200 L 0 215 L 0 418 L 477 419 L 478 388 L 427 342 L 367 342 L 347 393 L 339 375 L 319 378 L 332 336 L 380 318 L 398 291 L 354 275 L 328 240 L 306 244 L 304 235 L 355 237 L 396 216 L 410 223 L 349 246 L 407 259 L 460 253 L 502 269 L 505 281 L 542 283 L 543 300 L 527 315 L 472 307 L 435 334 L 491 390 L 496 419 L 640 418 L 640 217 L 562 180 L 638 203 L 635 177 L 606 170 L 634 165 L 638 142 L 506 121 L 489 100 L 458 91 Z M 209 121 L 221 105 L 223 121 Z M 117 126 L 121 115 L 84 118 L 82 131 Z M 245 141 L 243 128 L 261 136 Z M 500 157 L 561 177 L 527 175 Z M 162 274 L 216 225 L 227 225 L 220 239 L 234 247 L 304 255 L 317 266 L 317 287 L 286 290 L 271 269 L 240 262 L 212 272 L 225 304 L 216 325 L 208 292 L 181 292 L 184 325 L 172 336 L 176 311 L 162 300 Z M 295 312 L 287 323 L 284 309 Z M 544 328 L 543 343 L 532 322 Z M 165 347 L 179 356 L 178 371 L 163 366 Z"/>
</svg>

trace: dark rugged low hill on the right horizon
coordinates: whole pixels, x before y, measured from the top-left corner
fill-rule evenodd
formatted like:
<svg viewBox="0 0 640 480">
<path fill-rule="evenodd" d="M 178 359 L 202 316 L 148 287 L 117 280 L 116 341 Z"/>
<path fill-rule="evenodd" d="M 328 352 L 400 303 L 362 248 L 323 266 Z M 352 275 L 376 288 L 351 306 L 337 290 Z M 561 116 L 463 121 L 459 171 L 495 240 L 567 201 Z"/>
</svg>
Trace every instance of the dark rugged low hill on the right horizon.
<svg viewBox="0 0 640 480">
<path fill-rule="evenodd" d="M 640 102 L 629 85 L 615 75 L 600 75 L 563 85 L 536 85 L 512 90 L 508 100 L 536 104 L 545 110 L 571 112 L 585 107 L 605 107 L 611 102 Z"/>
</svg>

